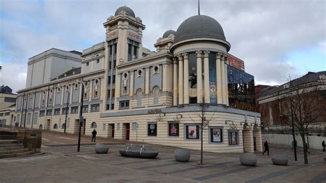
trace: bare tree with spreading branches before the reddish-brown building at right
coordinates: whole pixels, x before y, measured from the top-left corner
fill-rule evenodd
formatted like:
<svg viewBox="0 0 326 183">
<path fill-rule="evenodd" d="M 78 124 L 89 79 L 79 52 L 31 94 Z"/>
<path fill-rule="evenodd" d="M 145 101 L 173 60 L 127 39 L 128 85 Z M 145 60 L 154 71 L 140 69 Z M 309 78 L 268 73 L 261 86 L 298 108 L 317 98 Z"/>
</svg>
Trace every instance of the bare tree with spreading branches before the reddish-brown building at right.
<svg viewBox="0 0 326 183">
<path fill-rule="evenodd" d="M 294 130 L 300 133 L 305 164 L 308 164 L 305 135 L 309 125 L 318 119 L 318 87 L 309 85 L 309 83 L 301 84 L 298 79 L 289 79 L 289 82 L 285 84 L 285 88 L 288 91 L 279 99 L 281 106 L 287 109 L 287 114 L 289 114 L 285 116 L 284 123 L 292 127 L 292 133 L 294 133 Z"/>
</svg>

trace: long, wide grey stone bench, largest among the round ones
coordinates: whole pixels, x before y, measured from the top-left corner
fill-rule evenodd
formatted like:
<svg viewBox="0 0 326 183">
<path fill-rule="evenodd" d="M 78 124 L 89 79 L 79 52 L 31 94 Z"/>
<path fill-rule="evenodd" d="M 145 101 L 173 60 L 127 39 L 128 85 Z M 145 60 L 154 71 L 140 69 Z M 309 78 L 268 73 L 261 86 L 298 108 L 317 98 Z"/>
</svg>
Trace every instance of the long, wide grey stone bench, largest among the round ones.
<svg viewBox="0 0 326 183">
<path fill-rule="evenodd" d="M 158 155 L 158 151 L 152 147 L 145 145 L 127 144 L 126 147 L 119 150 L 122 156 L 133 158 L 149 158 L 154 159 Z"/>
</svg>

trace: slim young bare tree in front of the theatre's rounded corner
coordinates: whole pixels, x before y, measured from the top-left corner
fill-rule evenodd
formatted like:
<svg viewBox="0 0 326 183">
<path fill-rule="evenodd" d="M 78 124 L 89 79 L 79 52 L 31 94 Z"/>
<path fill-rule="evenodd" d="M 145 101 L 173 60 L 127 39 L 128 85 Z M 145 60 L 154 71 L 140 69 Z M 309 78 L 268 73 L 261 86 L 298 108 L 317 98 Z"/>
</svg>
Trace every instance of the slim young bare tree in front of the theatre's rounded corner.
<svg viewBox="0 0 326 183">
<path fill-rule="evenodd" d="M 204 101 L 204 98 L 202 99 L 202 101 Z M 209 122 L 213 119 L 214 115 L 215 115 L 215 111 L 212 114 L 212 116 L 210 116 L 210 118 L 206 118 L 206 112 L 208 111 L 208 107 L 209 104 L 206 103 L 198 103 L 198 107 L 200 109 L 200 111 L 193 111 L 193 113 L 199 117 L 199 120 L 195 120 L 194 118 L 192 118 L 191 116 L 189 116 L 191 118 L 191 120 L 193 120 L 193 122 L 195 122 L 195 124 L 200 124 L 199 125 L 199 130 L 200 130 L 200 136 L 201 136 L 201 144 L 200 144 L 200 164 L 203 164 L 203 131 L 204 129 L 208 126 Z"/>
</svg>

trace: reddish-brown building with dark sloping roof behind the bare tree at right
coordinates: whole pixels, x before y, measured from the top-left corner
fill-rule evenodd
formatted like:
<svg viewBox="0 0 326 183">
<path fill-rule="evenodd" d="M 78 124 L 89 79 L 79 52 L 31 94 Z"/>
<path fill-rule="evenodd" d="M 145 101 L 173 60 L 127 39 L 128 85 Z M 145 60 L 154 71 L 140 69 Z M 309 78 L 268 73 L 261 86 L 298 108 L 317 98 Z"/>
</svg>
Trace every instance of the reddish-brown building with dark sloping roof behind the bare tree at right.
<svg viewBox="0 0 326 183">
<path fill-rule="evenodd" d="M 298 83 L 298 86 L 292 83 Z M 299 87 L 301 91 L 307 93 L 312 89 L 318 89 L 318 118 L 316 122 L 309 125 L 309 135 L 326 136 L 326 71 L 308 72 L 301 78 L 296 78 L 290 83 L 284 83 L 279 86 L 265 87 L 259 92 L 259 111 L 261 113 L 261 121 L 268 126 L 270 130 L 281 131 L 284 129 L 285 120 L 289 118 L 288 100 L 286 94 Z M 323 135 L 324 134 L 324 135 Z"/>
</svg>

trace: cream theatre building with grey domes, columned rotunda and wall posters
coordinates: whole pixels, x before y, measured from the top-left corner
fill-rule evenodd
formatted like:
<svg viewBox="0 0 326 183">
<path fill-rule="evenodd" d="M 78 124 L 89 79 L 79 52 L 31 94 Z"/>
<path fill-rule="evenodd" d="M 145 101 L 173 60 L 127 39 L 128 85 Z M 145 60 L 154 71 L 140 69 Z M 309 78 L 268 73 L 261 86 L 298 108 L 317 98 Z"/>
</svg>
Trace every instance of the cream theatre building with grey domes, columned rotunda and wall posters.
<svg viewBox="0 0 326 183">
<path fill-rule="evenodd" d="M 239 58 L 232 67 L 215 19 L 189 17 L 157 39 L 155 52 L 142 46 L 146 27 L 131 8 L 118 8 L 103 26 L 103 42 L 83 53 L 51 49 L 30 58 L 17 98 L 20 126 L 78 133 L 83 100 L 85 135 L 96 129 L 105 138 L 187 149 L 200 149 L 203 138 L 204 151 L 262 150 L 254 77 Z"/>
</svg>

